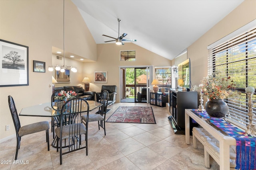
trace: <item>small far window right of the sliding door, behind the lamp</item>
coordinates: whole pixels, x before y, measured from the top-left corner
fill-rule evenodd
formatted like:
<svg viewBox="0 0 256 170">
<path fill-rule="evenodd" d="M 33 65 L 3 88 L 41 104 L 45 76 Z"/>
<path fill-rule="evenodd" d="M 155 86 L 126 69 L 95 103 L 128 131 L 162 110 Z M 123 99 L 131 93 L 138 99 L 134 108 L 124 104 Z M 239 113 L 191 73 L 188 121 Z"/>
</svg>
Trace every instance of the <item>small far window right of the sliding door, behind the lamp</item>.
<svg viewBox="0 0 256 170">
<path fill-rule="evenodd" d="M 155 78 L 161 82 L 158 85 L 159 92 L 161 92 L 161 88 L 165 88 L 165 91 L 172 87 L 172 67 L 155 67 Z"/>
</svg>

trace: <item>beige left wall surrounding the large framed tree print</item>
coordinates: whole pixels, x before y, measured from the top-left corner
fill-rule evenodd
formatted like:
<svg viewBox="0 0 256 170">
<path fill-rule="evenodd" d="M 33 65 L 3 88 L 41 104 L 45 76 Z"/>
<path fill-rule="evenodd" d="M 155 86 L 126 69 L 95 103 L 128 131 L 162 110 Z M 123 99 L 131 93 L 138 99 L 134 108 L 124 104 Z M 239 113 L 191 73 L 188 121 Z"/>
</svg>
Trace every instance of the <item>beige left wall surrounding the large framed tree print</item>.
<svg viewBox="0 0 256 170">
<path fill-rule="evenodd" d="M 29 47 L 29 86 L 0 87 L 1 140 L 15 134 L 8 95 L 14 98 L 18 113 L 22 107 L 50 102 L 52 87 L 49 88 L 49 84 L 54 73 L 47 68 L 52 65 L 52 46 L 63 49 L 63 1 L 0 0 L 0 39 Z M 96 43 L 78 9 L 69 0 L 65 0 L 65 41 L 65 50 L 97 60 Z M 46 62 L 46 72 L 33 72 L 33 60 Z M 82 63 L 76 65 L 79 67 L 76 75 L 81 82 Z M 20 116 L 22 125 L 48 119 Z M 9 131 L 5 131 L 6 125 L 10 125 Z"/>
</svg>

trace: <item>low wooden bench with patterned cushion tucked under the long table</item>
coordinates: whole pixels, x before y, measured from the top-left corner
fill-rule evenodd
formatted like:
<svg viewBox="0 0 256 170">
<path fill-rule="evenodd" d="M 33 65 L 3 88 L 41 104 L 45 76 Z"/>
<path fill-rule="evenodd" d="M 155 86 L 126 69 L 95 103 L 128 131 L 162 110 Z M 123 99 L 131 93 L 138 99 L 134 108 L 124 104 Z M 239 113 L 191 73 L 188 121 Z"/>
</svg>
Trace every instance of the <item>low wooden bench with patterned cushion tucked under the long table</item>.
<svg viewBox="0 0 256 170">
<path fill-rule="evenodd" d="M 210 168 L 210 156 L 220 164 L 220 145 L 208 131 L 203 128 L 193 127 L 193 147 L 197 148 L 197 140 L 204 145 L 204 165 Z M 230 145 L 230 169 L 235 170 L 236 167 L 236 146 Z"/>
</svg>

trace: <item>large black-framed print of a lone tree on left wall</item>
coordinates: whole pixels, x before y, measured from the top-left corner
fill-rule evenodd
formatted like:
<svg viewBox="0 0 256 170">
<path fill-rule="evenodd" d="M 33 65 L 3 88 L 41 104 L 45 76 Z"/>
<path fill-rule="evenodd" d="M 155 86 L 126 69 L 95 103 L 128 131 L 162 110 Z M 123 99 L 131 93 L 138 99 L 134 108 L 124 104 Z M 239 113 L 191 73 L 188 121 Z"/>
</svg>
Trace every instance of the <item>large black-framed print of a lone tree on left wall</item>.
<svg viewBox="0 0 256 170">
<path fill-rule="evenodd" d="M 28 86 L 28 47 L 0 39 L 0 87 Z"/>
</svg>

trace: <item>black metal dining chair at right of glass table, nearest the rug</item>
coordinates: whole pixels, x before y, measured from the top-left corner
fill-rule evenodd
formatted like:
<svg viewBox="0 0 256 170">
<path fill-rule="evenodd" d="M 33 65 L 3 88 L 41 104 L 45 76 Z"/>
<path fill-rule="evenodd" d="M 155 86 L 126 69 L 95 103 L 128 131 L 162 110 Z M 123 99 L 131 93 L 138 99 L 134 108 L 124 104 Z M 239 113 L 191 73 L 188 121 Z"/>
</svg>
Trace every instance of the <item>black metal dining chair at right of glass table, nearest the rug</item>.
<svg viewBox="0 0 256 170">
<path fill-rule="evenodd" d="M 102 104 L 102 106 L 99 107 L 99 111 L 96 112 L 96 114 L 90 114 L 89 116 L 82 115 L 82 123 L 86 125 L 87 117 L 88 117 L 88 122 L 98 121 L 99 130 L 100 130 L 100 127 L 102 127 L 102 129 L 104 129 L 104 134 L 106 136 L 105 119 L 106 119 L 106 112 L 108 107 L 108 91 L 104 90 L 101 96 L 102 97 L 100 99 L 100 103 Z"/>
</svg>

